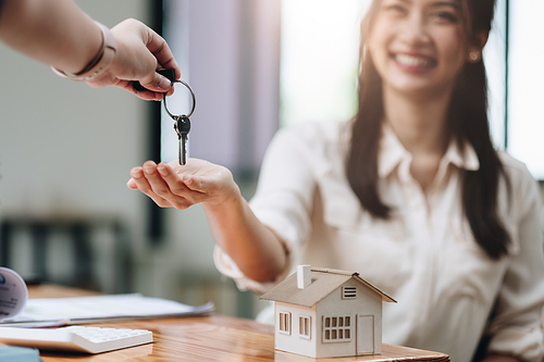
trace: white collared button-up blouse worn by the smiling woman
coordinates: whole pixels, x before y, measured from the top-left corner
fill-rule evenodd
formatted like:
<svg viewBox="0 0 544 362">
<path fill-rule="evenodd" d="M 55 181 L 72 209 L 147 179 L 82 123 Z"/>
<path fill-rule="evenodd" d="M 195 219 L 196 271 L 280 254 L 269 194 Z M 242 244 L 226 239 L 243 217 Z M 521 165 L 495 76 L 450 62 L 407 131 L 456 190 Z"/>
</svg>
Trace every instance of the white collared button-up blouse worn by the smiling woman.
<svg viewBox="0 0 544 362">
<path fill-rule="evenodd" d="M 524 164 L 500 153 L 511 183 L 499 185 L 499 214 L 510 233 L 498 261 L 475 242 L 460 200 L 460 170 L 478 170 L 470 145 L 452 142 L 426 195 L 412 178 L 411 155 L 384 126 L 379 158 L 382 200 L 391 221 L 362 210 L 345 177 L 349 123 L 281 129 L 264 158 L 250 205 L 285 242 L 289 265 L 273 283 L 245 277 L 215 249 L 220 272 L 258 294 L 297 264 L 358 272 L 398 303 L 384 303 L 383 341 L 440 351 L 470 362 L 482 334 L 490 351 L 541 362 L 544 303 L 541 198 Z M 493 311 L 493 317 L 489 320 Z"/>
</svg>

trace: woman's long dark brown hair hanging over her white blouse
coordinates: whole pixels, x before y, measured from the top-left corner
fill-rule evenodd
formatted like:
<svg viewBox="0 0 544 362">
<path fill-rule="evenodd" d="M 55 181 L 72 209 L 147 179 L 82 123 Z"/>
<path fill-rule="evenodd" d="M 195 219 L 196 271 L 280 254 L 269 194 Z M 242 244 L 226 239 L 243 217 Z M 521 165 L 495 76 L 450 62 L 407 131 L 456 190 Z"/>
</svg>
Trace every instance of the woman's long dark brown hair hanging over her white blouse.
<svg viewBox="0 0 544 362">
<path fill-rule="evenodd" d="M 491 29 L 495 0 L 461 0 L 468 41 L 475 34 Z M 374 217 L 388 220 L 392 208 L 379 195 L 378 153 L 384 118 L 382 79 L 369 54 L 366 40 L 380 0 L 375 0 L 361 23 L 361 68 L 359 76 L 359 112 L 353 124 L 353 140 L 346 175 L 363 209 Z M 463 171 L 462 208 L 477 242 L 492 259 L 507 254 L 510 237 L 497 212 L 500 176 L 508 179 L 493 147 L 487 120 L 487 79 L 483 61 L 466 63 L 455 85 L 447 115 L 450 139 L 462 147 L 469 142 L 475 150 L 480 167 Z M 462 148 L 461 148 L 462 149 Z"/>
</svg>

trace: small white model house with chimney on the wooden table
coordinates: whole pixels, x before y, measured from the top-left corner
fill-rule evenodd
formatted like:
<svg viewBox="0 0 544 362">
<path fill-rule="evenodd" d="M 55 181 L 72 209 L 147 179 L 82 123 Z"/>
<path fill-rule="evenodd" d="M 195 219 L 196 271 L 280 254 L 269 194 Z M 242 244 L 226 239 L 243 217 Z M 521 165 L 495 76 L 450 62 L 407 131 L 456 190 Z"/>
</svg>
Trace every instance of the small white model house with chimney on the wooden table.
<svg viewBox="0 0 544 362">
<path fill-rule="evenodd" d="M 312 358 L 382 352 L 382 301 L 358 273 L 298 265 L 260 299 L 275 302 L 275 349 Z"/>
</svg>

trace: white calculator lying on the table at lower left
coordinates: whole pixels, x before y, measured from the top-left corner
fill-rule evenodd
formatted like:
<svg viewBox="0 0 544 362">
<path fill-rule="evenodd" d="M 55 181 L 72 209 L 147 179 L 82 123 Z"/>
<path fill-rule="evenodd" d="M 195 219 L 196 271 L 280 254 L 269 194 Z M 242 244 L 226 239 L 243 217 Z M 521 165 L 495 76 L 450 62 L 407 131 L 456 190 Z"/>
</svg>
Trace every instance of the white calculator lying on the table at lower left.
<svg viewBox="0 0 544 362">
<path fill-rule="evenodd" d="M 69 326 L 57 329 L 0 327 L 0 344 L 32 347 L 39 350 L 62 350 L 100 353 L 153 341 L 146 329 Z"/>
</svg>

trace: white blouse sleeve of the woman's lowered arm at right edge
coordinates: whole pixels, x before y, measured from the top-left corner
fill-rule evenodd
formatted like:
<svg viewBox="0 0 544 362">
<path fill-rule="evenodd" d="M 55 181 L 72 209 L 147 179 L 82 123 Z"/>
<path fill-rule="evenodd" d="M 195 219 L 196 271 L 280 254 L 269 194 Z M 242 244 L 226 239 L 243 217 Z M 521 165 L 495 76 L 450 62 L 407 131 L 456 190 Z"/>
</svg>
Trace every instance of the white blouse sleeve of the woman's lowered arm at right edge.
<svg viewBox="0 0 544 362">
<path fill-rule="evenodd" d="M 512 183 L 512 204 L 519 241 L 500 288 L 490 324 L 490 353 L 509 354 L 541 362 L 544 339 L 541 313 L 544 304 L 544 244 L 541 196 L 527 168 Z M 518 185 L 518 187 L 516 187 Z"/>
</svg>

